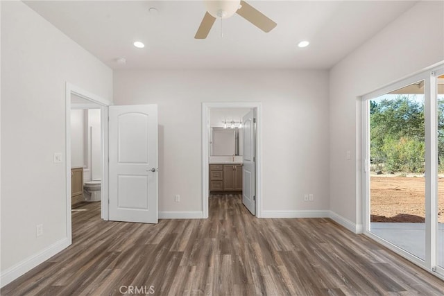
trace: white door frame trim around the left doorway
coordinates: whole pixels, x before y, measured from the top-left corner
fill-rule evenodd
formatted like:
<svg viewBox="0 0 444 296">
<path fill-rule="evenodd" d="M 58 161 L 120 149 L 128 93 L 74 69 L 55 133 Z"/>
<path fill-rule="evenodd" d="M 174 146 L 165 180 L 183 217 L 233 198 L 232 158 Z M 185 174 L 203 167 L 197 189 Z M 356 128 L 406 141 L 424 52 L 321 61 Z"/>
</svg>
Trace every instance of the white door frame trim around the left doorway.
<svg viewBox="0 0 444 296">
<path fill-rule="evenodd" d="M 100 106 L 101 109 L 101 146 L 102 146 L 102 181 L 101 181 L 101 218 L 108 220 L 108 107 L 110 101 L 85 89 L 66 82 L 65 87 L 65 167 L 66 167 L 66 214 L 67 214 L 67 238 L 69 245 L 72 243 L 71 222 L 71 94 L 80 96 L 91 103 Z M 88 107 L 88 106 L 84 106 Z M 88 109 L 88 108 L 85 108 Z M 90 109 L 90 108 L 89 108 Z"/>
</svg>

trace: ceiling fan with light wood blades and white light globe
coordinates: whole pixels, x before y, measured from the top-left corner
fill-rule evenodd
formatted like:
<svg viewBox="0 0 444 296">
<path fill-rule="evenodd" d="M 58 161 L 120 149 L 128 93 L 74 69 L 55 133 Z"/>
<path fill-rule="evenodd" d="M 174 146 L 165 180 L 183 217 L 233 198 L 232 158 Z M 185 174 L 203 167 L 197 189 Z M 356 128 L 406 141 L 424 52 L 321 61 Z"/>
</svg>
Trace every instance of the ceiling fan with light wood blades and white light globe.
<svg viewBox="0 0 444 296">
<path fill-rule="evenodd" d="M 195 39 L 205 39 L 216 19 L 226 19 L 237 13 L 257 28 L 268 33 L 275 28 L 276 23 L 259 12 L 253 6 L 241 0 L 204 0 L 207 12 L 194 36 Z"/>
</svg>

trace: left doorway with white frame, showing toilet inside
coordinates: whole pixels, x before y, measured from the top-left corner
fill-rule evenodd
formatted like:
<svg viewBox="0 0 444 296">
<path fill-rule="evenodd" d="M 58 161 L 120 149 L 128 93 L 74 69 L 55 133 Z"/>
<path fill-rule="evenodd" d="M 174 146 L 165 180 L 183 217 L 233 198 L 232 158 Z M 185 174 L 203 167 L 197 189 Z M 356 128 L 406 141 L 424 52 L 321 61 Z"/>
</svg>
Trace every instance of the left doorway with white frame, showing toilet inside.
<svg viewBox="0 0 444 296">
<path fill-rule="evenodd" d="M 67 236 L 73 216 L 88 211 L 108 220 L 108 106 L 110 102 L 67 83 Z M 99 216 L 99 217 L 97 217 Z M 76 225 L 77 227 L 77 225 Z"/>
</svg>

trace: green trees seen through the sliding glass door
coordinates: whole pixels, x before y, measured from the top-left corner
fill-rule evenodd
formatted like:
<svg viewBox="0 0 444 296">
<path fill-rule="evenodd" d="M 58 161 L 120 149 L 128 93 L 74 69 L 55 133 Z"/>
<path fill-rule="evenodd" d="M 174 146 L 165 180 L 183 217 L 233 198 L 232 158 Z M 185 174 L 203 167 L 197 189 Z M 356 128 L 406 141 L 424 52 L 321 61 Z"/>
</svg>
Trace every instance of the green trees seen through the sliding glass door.
<svg viewBox="0 0 444 296">
<path fill-rule="evenodd" d="M 422 96 L 421 96 L 422 97 Z M 440 107 L 444 110 L 444 102 Z M 441 116 L 444 132 L 444 118 Z M 424 103 L 416 95 L 370 101 L 370 162 L 375 171 L 424 173 Z M 444 141 L 441 143 L 444 148 Z M 444 149 L 440 155 L 444 157 Z M 444 158 L 443 158 L 444 160 Z"/>
</svg>

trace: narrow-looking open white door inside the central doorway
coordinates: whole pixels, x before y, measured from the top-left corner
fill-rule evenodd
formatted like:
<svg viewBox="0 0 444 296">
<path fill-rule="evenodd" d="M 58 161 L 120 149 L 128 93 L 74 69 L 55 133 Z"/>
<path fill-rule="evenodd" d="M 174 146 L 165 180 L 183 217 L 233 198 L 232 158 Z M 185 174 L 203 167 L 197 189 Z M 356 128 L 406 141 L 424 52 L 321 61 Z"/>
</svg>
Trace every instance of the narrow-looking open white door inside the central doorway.
<svg viewBox="0 0 444 296">
<path fill-rule="evenodd" d="M 250 110 L 242 119 L 244 162 L 242 166 L 242 202 L 251 214 L 256 214 L 256 166 L 255 166 L 255 120 Z"/>
</svg>

